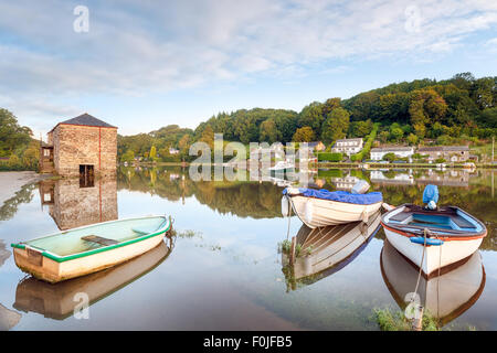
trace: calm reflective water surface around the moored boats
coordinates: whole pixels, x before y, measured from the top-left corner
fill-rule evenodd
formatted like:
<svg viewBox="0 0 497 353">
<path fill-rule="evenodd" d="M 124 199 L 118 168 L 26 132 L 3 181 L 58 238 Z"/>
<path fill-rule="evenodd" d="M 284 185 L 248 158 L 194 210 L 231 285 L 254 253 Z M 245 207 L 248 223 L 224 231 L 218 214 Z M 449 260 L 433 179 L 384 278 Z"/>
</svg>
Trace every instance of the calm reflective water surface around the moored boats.
<svg viewBox="0 0 497 353">
<path fill-rule="evenodd" d="M 424 185 L 435 183 L 441 204 L 484 221 L 489 234 L 479 252 L 437 286 L 422 281 L 421 291 L 444 329 L 497 329 L 497 175 L 435 170 L 308 175 L 313 188 L 329 190 L 366 179 L 391 204 L 421 203 Z M 63 180 L 24 186 L 0 208 L 0 329 L 378 330 L 372 310 L 402 309 L 417 272 L 389 248 L 380 228 L 331 268 L 298 275 L 279 252 L 288 229 L 288 218 L 281 216 L 286 183 L 193 182 L 180 168 L 123 168 L 116 180 L 93 185 Z M 176 235 L 118 267 L 52 286 L 25 276 L 13 261 L 12 242 L 147 214 L 171 215 Z M 292 217 L 289 237 L 305 232 L 300 228 Z M 73 315 L 78 292 L 92 302 L 88 319 Z"/>
</svg>

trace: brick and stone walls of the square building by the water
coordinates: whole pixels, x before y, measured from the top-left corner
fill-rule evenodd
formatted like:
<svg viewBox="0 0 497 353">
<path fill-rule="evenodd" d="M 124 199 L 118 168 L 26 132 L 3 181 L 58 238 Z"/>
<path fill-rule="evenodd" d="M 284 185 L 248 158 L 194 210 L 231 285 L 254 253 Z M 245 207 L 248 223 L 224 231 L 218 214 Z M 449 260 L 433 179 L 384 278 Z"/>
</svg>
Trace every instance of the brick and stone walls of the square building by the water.
<svg viewBox="0 0 497 353">
<path fill-rule="evenodd" d="M 60 175 L 77 176 L 80 164 L 94 165 L 97 175 L 116 175 L 116 128 L 61 124 L 53 130 L 52 140 Z"/>
</svg>

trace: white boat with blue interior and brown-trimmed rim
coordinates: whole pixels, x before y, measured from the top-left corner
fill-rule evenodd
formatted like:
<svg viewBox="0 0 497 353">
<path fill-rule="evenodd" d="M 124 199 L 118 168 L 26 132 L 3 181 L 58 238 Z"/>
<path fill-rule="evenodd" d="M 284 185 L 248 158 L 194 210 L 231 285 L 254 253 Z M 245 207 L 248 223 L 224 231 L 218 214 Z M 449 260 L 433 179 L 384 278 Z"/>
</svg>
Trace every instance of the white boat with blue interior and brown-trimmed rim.
<svg viewBox="0 0 497 353">
<path fill-rule="evenodd" d="M 427 277 L 473 255 L 487 235 L 485 225 L 465 211 L 427 210 L 403 204 L 382 216 L 388 240 Z"/>
</svg>

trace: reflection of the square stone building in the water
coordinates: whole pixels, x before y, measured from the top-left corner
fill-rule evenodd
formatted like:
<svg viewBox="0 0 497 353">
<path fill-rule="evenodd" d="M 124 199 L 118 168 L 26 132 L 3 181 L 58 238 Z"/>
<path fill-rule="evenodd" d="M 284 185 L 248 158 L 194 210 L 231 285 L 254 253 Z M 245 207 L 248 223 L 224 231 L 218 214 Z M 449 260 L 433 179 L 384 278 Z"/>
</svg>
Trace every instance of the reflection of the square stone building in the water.
<svg viewBox="0 0 497 353">
<path fill-rule="evenodd" d="M 42 206 L 59 229 L 117 220 L 117 181 L 97 179 L 81 185 L 78 179 L 41 181 L 39 185 Z"/>
</svg>

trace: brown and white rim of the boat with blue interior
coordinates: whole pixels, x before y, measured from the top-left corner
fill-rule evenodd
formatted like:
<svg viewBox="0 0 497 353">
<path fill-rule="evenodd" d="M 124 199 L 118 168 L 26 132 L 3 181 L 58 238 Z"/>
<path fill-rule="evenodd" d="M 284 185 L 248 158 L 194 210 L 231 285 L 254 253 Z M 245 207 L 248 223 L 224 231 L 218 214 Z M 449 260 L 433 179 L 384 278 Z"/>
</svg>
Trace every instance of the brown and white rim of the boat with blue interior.
<svg viewBox="0 0 497 353">
<path fill-rule="evenodd" d="M 389 229 L 391 232 L 394 232 L 394 233 L 396 233 L 399 235 L 402 235 L 402 236 L 405 236 L 405 237 L 409 237 L 409 238 L 410 237 L 420 236 L 420 234 L 417 234 L 417 233 L 411 232 L 411 231 L 409 231 L 406 228 L 402 228 L 401 229 L 399 227 L 395 227 L 395 225 L 391 224 L 390 222 L 387 222 L 387 223 L 384 222 L 385 217 L 389 214 L 393 213 L 394 211 L 399 210 L 400 207 L 406 207 L 406 206 L 412 206 L 412 205 L 414 205 L 414 204 L 412 204 L 412 203 L 404 203 L 404 204 L 402 204 L 400 206 L 396 206 L 395 208 L 384 213 L 381 216 L 381 225 L 384 228 L 387 228 L 387 229 Z M 444 242 L 453 242 L 453 240 L 474 240 L 474 239 L 479 239 L 479 238 L 484 238 L 484 237 L 487 236 L 487 227 L 485 226 L 485 224 L 482 221 L 479 221 L 478 218 L 476 218 L 472 214 L 467 213 L 466 211 L 464 211 L 464 210 L 462 210 L 462 208 L 459 208 L 457 206 L 451 206 L 451 207 L 456 210 L 456 211 L 461 211 L 462 213 L 466 214 L 468 217 L 470 217 L 473 221 L 475 221 L 479 226 L 482 226 L 482 231 L 478 232 L 478 233 L 476 233 L 476 232 L 467 232 L 466 233 L 467 236 L 461 236 L 461 235 L 459 236 L 454 236 L 454 235 L 451 235 L 448 233 L 444 233 L 443 228 L 436 228 L 436 229 L 440 229 L 440 231 L 435 231 L 435 229 L 433 229 L 435 227 L 427 227 L 429 229 L 437 232 L 436 235 L 434 235 L 434 236 L 432 236 L 430 238 L 441 239 L 441 240 L 444 240 Z M 413 229 L 414 229 L 414 227 L 413 227 Z M 461 231 L 461 232 L 464 234 L 464 231 Z M 472 235 L 469 235 L 469 234 L 472 234 Z M 430 247 L 431 245 L 426 245 L 426 246 Z"/>
</svg>

